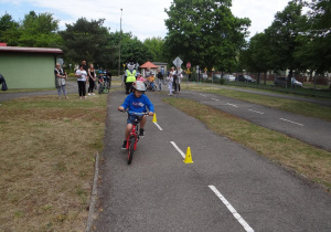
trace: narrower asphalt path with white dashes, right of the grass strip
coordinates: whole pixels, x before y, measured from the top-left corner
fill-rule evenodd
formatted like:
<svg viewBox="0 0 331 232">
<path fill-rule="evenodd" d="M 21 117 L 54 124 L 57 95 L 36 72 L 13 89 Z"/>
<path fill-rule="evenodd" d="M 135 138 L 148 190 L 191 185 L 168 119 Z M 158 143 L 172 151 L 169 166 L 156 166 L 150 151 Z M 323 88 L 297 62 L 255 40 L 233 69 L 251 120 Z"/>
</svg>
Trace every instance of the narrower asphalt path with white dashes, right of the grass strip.
<svg viewBox="0 0 331 232">
<path fill-rule="evenodd" d="M 213 106 L 253 124 L 280 131 L 307 144 L 331 151 L 330 122 L 216 94 L 183 91 L 179 96 Z"/>
</svg>

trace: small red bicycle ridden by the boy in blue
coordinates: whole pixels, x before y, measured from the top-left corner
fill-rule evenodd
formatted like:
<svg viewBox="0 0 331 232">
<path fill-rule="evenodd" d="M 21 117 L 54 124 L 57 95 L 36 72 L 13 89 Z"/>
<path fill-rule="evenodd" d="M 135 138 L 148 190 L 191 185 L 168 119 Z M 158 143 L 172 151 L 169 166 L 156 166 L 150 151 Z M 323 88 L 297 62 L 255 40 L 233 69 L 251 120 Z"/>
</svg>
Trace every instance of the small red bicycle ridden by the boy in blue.
<svg viewBox="0 0 331 232">
<path fill-rule="evenodd" d="M 127 138 L 127 150 L 128 150 L 128 165 L 131 165 L 134 152 L 137 149 L 137 144 L 139 141 L 139 123 L 145 115 L 149 115 L 148 113 L 135 113 L 129 110 L 122 110 L 124 113 L 128 113 L 128 118 L 130 116 L 138 116 L 135 117 L 132 122 L 132 129 L 130 131 L 129 137 Z"/>
</svg>

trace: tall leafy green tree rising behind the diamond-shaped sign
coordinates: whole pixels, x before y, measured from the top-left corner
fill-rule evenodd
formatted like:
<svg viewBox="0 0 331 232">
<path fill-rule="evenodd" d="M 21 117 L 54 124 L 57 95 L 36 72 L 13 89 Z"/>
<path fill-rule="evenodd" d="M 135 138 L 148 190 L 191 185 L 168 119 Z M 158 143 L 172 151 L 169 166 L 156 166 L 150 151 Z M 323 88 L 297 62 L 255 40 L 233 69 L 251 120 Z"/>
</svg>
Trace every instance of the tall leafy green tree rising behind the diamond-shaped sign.
<svg viewBox="0 0 331 232">
<path fill-rule="evenodd" d="M 228 71 L 245 44 L 249 19 L 235 18 L 231 0 L 174 0 L 166 12 L 166 46 L 171 56 Z"/>
</svg>

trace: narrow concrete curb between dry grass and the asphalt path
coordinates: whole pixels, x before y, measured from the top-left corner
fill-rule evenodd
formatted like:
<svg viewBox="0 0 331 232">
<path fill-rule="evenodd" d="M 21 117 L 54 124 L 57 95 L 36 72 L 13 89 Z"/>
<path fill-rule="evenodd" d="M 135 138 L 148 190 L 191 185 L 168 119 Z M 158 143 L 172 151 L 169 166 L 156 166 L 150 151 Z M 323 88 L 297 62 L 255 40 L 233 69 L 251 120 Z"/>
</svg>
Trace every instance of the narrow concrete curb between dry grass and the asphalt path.
<svg viewBox="0 0 331 232">
<path fill-rule="evenodd" d="M 94 220 L 94 210 L 95 210 L 96 198 L 97 198 L 98 175 L 99 175 L 99 152 L 96 154 L 96 159 L 95 159 L 95 173 L 94 173 L 94 179 L 93 179 L 93 188 L 92 188 L 92 194 L 90 194 L 87 224 L 86 224 L 86 230 L 85 230 L 86 232 L 90 231 L 92 223 Z"/>
</svg>

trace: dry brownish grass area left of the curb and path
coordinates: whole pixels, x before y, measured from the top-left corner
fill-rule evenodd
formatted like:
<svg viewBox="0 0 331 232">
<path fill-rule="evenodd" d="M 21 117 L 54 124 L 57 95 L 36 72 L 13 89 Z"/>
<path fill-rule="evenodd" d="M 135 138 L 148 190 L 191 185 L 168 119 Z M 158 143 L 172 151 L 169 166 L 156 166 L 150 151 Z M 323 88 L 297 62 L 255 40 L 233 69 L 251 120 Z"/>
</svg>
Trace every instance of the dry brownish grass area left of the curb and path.
<svg viewBox="0 0 331 232">
<path fill-rule="evenodd" d="M 3 102 L 0 231 L 83 231 L 107 95 Z"/>
</svg>

